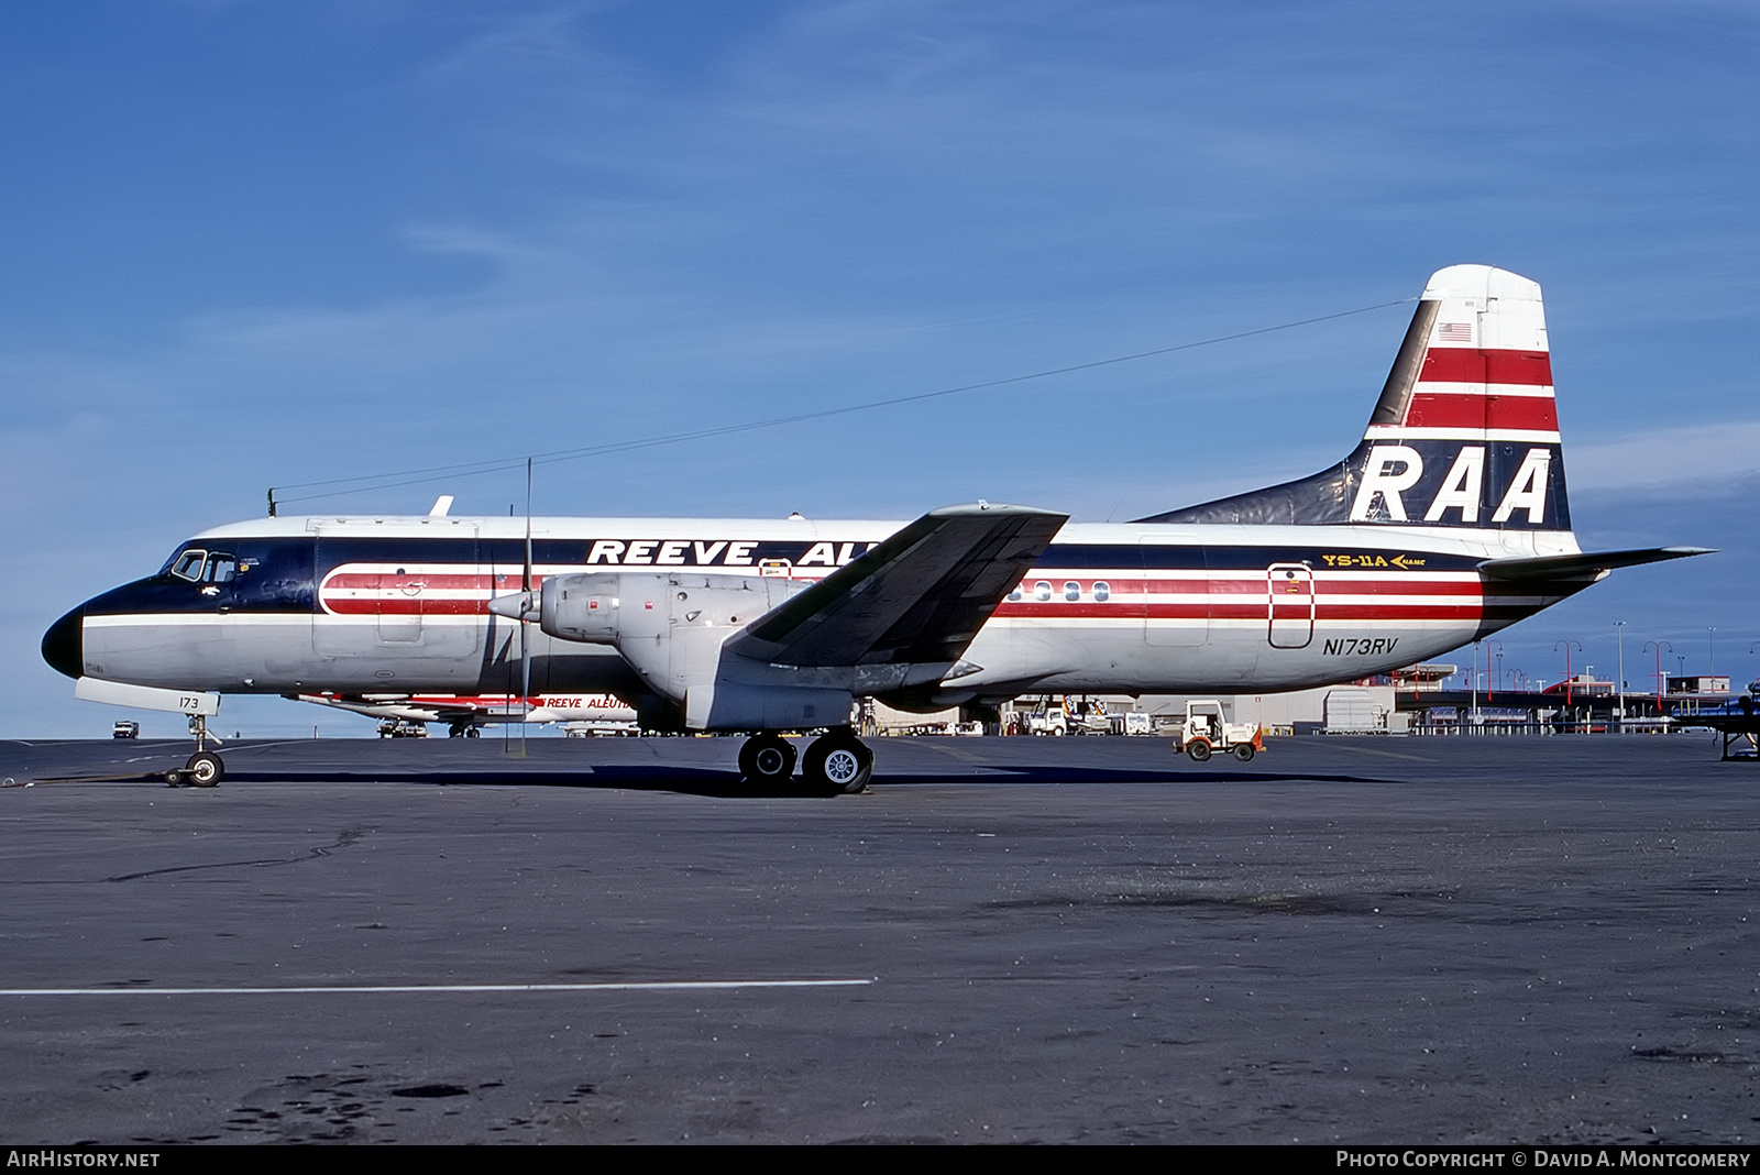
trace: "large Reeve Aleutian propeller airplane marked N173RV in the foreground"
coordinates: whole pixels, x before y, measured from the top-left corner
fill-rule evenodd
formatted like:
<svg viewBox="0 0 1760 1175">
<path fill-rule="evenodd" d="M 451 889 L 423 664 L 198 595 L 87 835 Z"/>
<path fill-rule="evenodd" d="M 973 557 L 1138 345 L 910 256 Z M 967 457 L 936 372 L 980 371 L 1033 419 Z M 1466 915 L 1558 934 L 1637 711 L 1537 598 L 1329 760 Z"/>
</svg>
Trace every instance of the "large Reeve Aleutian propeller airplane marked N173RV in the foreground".
<svg viewBox="0 0 1760 1175">
<path fill-rule="evenodd" d="M 444 507 L 436 507 L 444 508 Z M 648 728 L 746 732 L 741 774 L 861 790 L 855 698 L 1297 690 L 1394 670 L 1610 568 L 1570 529 L 1540 287 L 1436 273 L 1362 443 L 1308 478 L 1123 524 L 979 501 L 915 522 L 269 517 L 56 621 L 76 695 L 604 691 Z M 530 690 L 524 682 L 530 681 Z"/>
</svg>

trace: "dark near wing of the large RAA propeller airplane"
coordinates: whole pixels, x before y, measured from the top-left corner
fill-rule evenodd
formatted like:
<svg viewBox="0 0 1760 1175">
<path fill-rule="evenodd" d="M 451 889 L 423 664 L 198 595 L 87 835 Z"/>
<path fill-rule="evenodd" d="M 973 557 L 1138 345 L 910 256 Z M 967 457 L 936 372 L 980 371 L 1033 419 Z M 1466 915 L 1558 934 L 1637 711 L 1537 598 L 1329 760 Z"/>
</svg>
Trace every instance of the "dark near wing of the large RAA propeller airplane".
<svg viewBox="0 0 1760 1175">
<path fill-rule="evenodd" d="M 796 667 L 954 663 L 1067 521 L 984 501 L 931 510 L 725 647 Z"/>
</svg>

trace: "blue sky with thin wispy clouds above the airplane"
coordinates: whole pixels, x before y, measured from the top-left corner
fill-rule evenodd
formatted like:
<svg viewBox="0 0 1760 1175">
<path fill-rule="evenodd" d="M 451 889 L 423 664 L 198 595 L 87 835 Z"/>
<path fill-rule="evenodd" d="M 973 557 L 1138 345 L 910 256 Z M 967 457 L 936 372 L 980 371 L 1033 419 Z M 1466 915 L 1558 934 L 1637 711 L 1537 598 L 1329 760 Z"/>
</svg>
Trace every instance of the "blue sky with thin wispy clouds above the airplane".
<svg viewBox="0 0 1760 1175">
<path fill-rule="evenodd" d="M 1505 668 L 1573 639 L 1610 675 L 1624 619 L 1633 688 L 1646 640 L 1748 681 L 1756 42 L 1734 2 L 5 5 L 0 733 L 102 733 L 42 630 L 269 485 L 1174 347 L 1457 262 L 1545 288 L 1584 545 L 1727 549 L 1517 626 Z M 1341 456 L 1406 318 L 540 466 L 537 510 L 1137 517 Z M 502 514 L 523 471 L 304 505 L 438 493 Z"/>
</svg>

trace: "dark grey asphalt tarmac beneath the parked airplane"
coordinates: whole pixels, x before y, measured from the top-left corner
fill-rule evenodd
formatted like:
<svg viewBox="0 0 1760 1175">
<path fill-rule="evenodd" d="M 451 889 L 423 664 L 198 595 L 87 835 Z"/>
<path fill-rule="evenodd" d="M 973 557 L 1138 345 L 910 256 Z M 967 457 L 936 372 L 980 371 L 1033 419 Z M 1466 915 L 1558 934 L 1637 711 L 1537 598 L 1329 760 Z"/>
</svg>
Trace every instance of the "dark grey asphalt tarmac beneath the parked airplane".
<svg viewBox="0 0 1760 1175">
<path fill-rule="evenodd" d="M 0 742 L 0 1138 L 1748 1143 L 1707 737 Z"/>
</svg>

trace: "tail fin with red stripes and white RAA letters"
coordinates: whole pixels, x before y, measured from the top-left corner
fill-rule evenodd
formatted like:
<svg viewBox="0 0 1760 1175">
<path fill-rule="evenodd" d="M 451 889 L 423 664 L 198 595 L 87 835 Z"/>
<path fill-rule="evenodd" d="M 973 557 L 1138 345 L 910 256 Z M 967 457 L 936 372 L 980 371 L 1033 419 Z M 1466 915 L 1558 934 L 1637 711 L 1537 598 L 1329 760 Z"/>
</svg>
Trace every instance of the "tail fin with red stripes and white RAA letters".
<svg viewBox="0 0 1760 1175">
<path fill-rule="evenodd" d="M 1568 531 L 1540 287 L 1489 266 L 1440 269 L 1345 461 L 1137 521 Z"/>
</svg>

